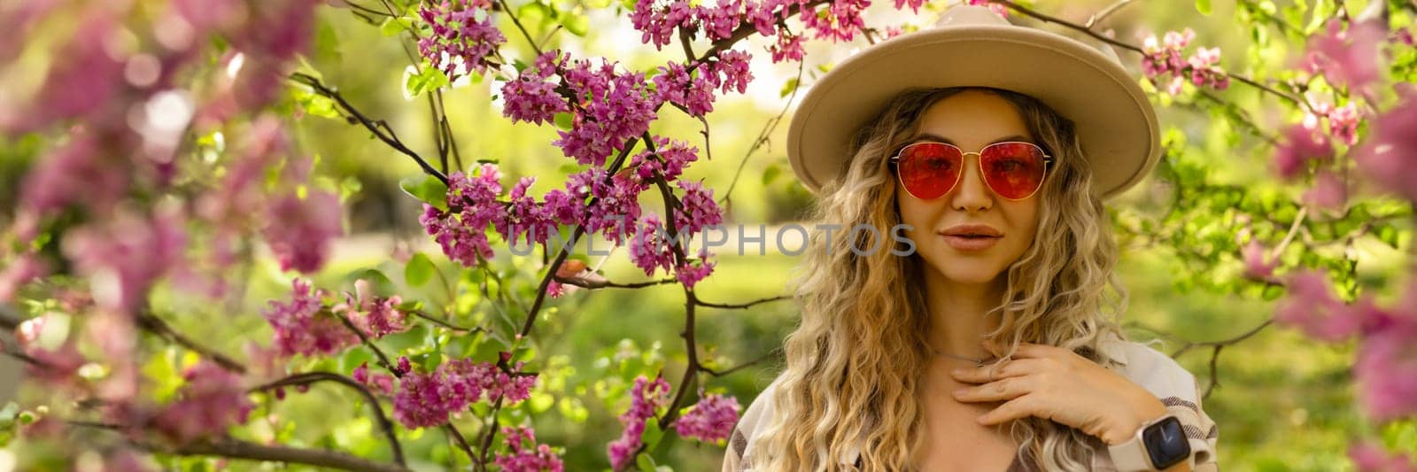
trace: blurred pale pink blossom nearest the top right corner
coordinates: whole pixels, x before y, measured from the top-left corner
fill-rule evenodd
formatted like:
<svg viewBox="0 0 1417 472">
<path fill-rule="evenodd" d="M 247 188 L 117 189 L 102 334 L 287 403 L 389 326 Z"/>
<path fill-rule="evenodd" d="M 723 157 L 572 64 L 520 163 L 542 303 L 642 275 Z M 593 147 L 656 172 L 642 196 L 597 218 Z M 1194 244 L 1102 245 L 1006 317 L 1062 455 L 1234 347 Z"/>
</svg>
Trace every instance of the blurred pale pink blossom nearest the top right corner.
<svg viewBox="0 0 1417 472">
<path fill-rule="evenodd" d="M 1370 20 L 1348 24 L 1348 30 L 1340 31 L 1345 23 L 1329 20 L 1326 33 L 1309 40 L 1304 67 L 1309 74 L 1323 74 L 1333 85 L 1363 91 L 1382 75 L 1379 47 L 1386 40 L 1387 28 Z"/>
</svg>

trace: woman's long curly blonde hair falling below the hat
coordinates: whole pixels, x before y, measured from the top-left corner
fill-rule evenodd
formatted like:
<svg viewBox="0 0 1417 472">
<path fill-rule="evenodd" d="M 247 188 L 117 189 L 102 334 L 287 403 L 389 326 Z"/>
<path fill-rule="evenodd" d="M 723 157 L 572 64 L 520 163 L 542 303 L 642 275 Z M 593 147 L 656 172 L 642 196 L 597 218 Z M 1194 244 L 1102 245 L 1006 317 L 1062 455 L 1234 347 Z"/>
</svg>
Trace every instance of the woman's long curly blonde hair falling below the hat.
<svg viewBox="0 0 1417 472">
<path fill-rule="evenodd" d="M 971 88 L 1012 102 L 1040 146 L 1057 157 L 1039 193 L 1034 244 L 1007 268 L 1005 296 L 985 315 L 1002 319 L 985 337 L 1005 346 L 1005 359 L 1026 342 L 1105 363 L 1098 349 L 1105 336 L 1125 339 L 1117 318 L 1127 308 L 1127 291 L 1112 274 L 1117 244 L 1102 201 L 1091 193 L 1091 170 L 1074 125 L 1032 96 Z M 854 136 L 845 177 L 822 189 L 812 227 L 891 228 L 901 223 L 888 154 L 914 136 L 930 105 L 971 88 L 897 95 Z M 772 398 L 764 398 L 775 407 L 761 428 L 755 471 L 837 471 L 853 445 L 862 469 L 914 469 L 924 444 L 917 388 L 931 353 L 924 295 L 911 286 L 925 262 L 918 254 L 853 252 L 852 247 L 874 245 L 869 232 L 854 234 L 862 237 L 823 238 L 813 231 L 809 238 L 808 258 L 794 279 L 802 319 L 785 339 L 786 366 Z M 1107 296 L 1108 286 L 1115 296 Z M 1087 471 L 1101 444 L 1037 417 L 1013 421 L 1009 434 L 1019 452 L 1047 471 Z"/>
</svg>

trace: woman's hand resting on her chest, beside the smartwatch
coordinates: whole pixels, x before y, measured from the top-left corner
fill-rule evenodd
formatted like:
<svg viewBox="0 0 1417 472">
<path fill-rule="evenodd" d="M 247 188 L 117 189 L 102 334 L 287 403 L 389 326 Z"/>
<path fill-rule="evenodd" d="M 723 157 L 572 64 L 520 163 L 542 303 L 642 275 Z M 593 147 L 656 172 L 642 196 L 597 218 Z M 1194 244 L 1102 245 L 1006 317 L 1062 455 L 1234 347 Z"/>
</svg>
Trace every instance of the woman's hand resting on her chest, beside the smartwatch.
<svg viewBox="0 0 1417 472">
<path fill-rule="evenodd" d="M 999 354 L 989 342 L 983 347 Z M 1166 405 L 1146 388 L 1057 346 L 1023 343 L 1002 364 L 955 369 L 951 376 L 982 384 L 955 390 L 955 400 L 1005 401 L 978 418 L 985 425 L 1039 417 L 1114 445 L 1129 441 L 1142 422 L 1166 414 Z"/>
</svg>

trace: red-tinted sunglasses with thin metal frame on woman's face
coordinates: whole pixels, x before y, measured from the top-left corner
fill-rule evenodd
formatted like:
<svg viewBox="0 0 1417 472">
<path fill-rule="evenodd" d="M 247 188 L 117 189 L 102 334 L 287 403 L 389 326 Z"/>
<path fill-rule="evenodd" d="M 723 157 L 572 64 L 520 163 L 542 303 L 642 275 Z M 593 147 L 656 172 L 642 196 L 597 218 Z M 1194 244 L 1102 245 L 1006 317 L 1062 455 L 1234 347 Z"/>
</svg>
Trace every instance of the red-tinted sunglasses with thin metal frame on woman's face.
<svg viewBox="0 0 1417 472">
<path fill-rule="evenodd" d="M 1024 200 L 1043 187 L 1043 177 L 1053 156 L 1034 143 L 1009 140 L 985 146 L 978 153 L 937 142 L 905 145 L 890 163 L 896 176 L 913 197 L 938 198 L 954 190 L 964 174 L 965 154 L 979 156 L 979 173 L 993 193 L 1006 200 Z"/>
</svg>

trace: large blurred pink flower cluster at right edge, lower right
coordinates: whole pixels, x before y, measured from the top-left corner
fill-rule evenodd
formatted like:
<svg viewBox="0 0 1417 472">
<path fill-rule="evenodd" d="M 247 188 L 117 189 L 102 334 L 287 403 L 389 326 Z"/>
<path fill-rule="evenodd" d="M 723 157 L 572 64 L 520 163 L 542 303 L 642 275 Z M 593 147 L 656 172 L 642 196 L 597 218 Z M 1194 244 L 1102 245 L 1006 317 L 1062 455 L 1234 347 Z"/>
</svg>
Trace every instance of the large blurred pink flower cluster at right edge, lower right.
<svg viewBox="0 0 1417 472">
<path fill-rule="evenodd" d="M 1316 271 L 1289 276 L 1275 320 L 1325 342 L 1360 337 L 1353 376 L 1367 414 L 1379 421 L 1417 415 L 1417 283 L 1391 308 L 1363 296 L 1339 300 Z"/>
</svg>

